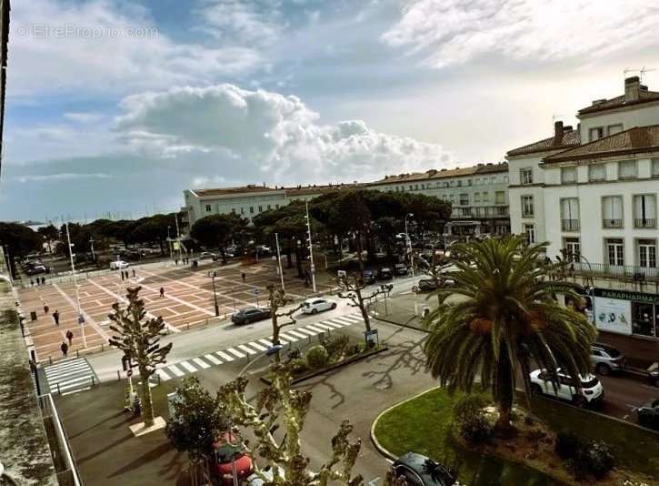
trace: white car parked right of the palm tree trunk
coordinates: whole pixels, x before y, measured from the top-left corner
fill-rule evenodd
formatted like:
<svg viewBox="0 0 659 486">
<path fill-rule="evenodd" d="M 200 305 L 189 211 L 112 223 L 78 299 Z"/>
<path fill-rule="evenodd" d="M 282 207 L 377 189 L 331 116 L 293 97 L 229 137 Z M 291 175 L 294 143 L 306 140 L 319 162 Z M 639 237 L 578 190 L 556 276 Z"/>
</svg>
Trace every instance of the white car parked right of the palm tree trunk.
<svg viewBox="0 0 659 486">
<path fill-rule="evenodd" d="M 595 405 L 604 400 L 604 387 L 600 380 L 597 380 L 591 374 L 579 376 L 581 390 L 574 386 L 574 379 L 564 374 L 560 369 L 557 370 L 558 383 L 555 389 L 546 370 L 534 370 L 531 372 L 530 378 L 531 388 L 535 394 L 569 400 L 578 407 Z"/>
</svg>

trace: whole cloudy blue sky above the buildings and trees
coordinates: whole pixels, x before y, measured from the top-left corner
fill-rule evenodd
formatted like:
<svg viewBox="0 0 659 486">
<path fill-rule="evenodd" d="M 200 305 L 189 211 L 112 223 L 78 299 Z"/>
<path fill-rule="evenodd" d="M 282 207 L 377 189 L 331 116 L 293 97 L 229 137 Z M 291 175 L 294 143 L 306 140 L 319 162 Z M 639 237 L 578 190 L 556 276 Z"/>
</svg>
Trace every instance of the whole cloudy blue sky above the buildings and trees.
<svg viewBox="0 0 659 486">
<path fill-rule="evenodd" d="M 659 90 L 646 0 L 24 0 L 11 22 L 0 220 L 499 162 L 625 70 Z"/>
</svg>

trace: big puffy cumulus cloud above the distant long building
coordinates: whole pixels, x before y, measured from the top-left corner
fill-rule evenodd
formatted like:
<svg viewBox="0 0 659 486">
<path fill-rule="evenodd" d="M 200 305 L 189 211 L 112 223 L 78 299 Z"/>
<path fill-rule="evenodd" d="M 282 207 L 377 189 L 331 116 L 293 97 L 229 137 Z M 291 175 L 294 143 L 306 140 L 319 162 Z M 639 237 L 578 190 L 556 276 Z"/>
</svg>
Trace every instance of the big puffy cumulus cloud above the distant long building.
<svg viewBox="0 0 659 486">
<path fill-rule="evenodd" d="M 229 177 L 278 183 L 364 180 L 384 169 L 443 167 L 450 154 L 436 144 L 396 137 L 351 120 L 323 125 L 296 96 L 234 85 L 181 87 L 128 96 L 119 136 L 141 150 L 175 157 L 205 152 Z"/>
</svg>

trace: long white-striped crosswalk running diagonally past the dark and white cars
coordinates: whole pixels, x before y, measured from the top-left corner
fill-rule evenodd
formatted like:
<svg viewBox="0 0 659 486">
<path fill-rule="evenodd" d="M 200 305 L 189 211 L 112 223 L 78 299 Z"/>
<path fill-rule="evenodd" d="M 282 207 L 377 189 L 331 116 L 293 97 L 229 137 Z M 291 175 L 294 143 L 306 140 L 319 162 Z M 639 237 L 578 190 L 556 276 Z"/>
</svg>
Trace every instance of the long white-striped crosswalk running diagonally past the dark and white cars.
<svg viewBox="0 0 659 486">
<path fill-rule="evenodd" d="M 353 324 L 362 324 L 364 319 L 361 315 L 348 315 L 340 318 L 327 319 L 323 322 L 315 322 L 307 326 L 295 326 L 295 328 L 285 328 L 285 332 L 279 336 L 279 341 L 285 345 L 297 341 L 310 339 L 318 334 L 333 331 L 335 329 L 346 328 Z M 257 354 L 262 354 L 270 348 L 273 343 L 268 339 L 255 339 L 245 344 L 238 344 L 233 348 L 226 348 L 212 353 L 205 354 L 199 358 L 186 359 L 175 364 L 165 365 L 155 370 L 161 381 L 180 378 L 188 373 L 195 373 L 201 370 L 207 370 L 213 366 L 220 366 L 236 359 L 252 359 Z"/>
</svg>

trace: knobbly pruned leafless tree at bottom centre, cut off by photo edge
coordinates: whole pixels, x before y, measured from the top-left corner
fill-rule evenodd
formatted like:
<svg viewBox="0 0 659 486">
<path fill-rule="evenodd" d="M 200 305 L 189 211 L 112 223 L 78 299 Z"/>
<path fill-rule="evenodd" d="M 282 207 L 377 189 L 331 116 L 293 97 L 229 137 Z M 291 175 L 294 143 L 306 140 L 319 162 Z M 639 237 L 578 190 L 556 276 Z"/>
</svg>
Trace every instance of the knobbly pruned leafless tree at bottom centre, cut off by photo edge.
<svg viewBox="0 0 659 486">
<path fill-rule="evenodd" d="M 291 389 L 291 375 L 285 365 L 273 364 L 269 378 L 272 384 L 255 400 L 245 396 L 245 378 L 227 383 L 217 393 L 225 415 L 255 437 L 254 445 L 245 440 L 248 453 L 256 458 L 255 474 L 271 486 L 363 485 L 361 475 L 352 476 L 361 440 L 350 440 L 350 422 L 344 420 L 334 435 L 329 461 L 312 470 L 300 439 L 312 394 Z M 282 427 L 284 430 L 277 434 Z M 265 477 L 264 464 L 274 472 L 274 478 Z"/>
</svg>

